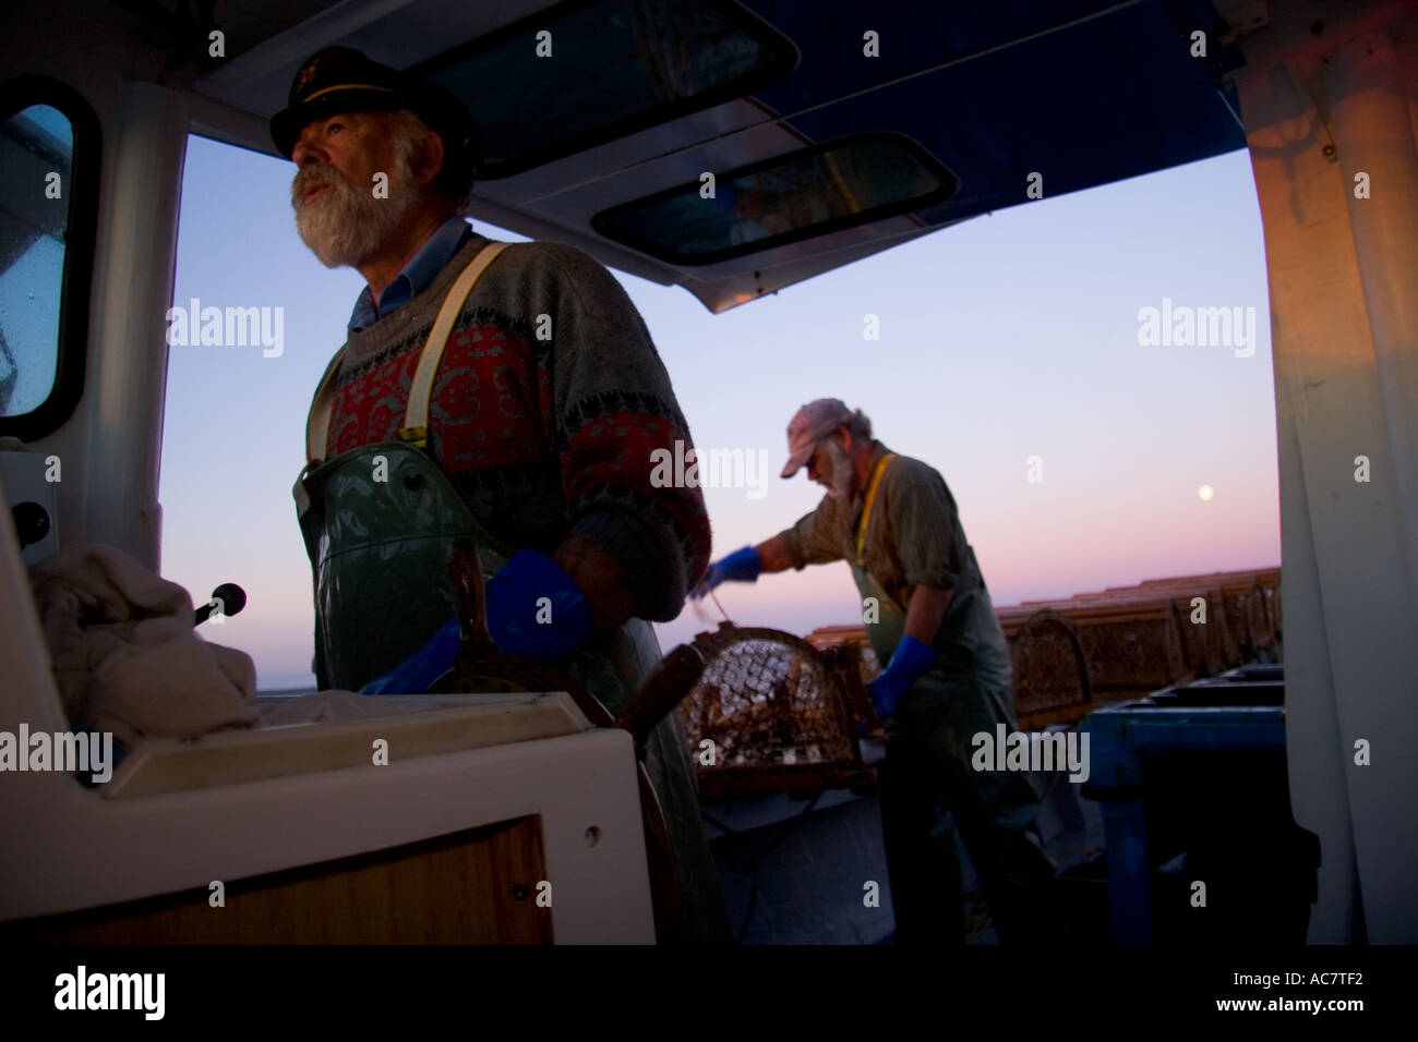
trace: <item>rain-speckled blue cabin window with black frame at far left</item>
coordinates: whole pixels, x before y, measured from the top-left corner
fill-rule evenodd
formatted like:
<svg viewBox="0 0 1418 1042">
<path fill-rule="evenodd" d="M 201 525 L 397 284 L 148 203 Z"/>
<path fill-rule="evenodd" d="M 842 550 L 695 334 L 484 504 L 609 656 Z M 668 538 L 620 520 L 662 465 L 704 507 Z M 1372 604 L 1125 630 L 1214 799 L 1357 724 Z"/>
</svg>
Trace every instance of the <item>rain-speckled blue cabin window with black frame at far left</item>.
<svg viewBox="0 0 1418 1042">
<path fill-rule="evenodd" d="M 0 434 L 50 434 L 82 390 L 96 150 L 96 121 L 68 88 L 0 89 Z"/>
</svg>

